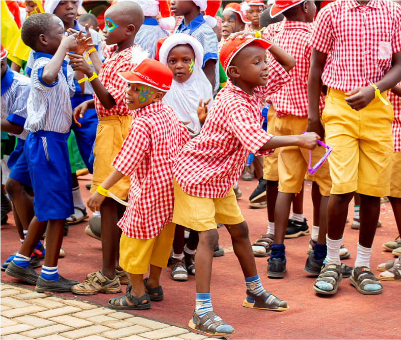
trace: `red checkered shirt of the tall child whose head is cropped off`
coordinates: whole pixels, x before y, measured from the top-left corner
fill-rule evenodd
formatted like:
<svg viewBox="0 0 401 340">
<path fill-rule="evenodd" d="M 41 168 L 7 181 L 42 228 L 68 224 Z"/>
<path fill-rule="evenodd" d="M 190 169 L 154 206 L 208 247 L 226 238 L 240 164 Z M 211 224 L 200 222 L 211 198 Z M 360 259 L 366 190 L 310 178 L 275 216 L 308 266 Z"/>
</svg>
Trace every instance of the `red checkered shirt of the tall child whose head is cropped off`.
<svg viewBox="0 0 401 340">
<path fill-rule="evenodd" d="M 322 80 L 350 91 L 381 80 L 401 51 L 401 6 L 392 1 L 335 1 L 317 15 L 310 37 L 317 51 L 331 53 Z"/>
</svg>

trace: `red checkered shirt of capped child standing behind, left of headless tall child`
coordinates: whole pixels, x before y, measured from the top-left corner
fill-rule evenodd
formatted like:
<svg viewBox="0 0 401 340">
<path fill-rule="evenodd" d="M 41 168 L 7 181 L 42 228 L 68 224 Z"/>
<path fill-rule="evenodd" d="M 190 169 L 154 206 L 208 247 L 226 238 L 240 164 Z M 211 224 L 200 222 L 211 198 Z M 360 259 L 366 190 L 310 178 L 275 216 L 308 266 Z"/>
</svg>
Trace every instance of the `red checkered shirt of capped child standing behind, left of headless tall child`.
<svg viewBox="0 0 401 340">
<path fill-rule="evenodd" d="M 308 74 L 312 47 L 309 44 L 310 24 L 301 21 L 282 21 L 276 25 L 272 41 L 295 58 L 297 63 L 289 71 L 292 82 L 270 96 L 277 117 L 289 114 L 308 116 Z M 320 95 L 319 108 L 322 113 L 325 96 Z"/>
</svg>

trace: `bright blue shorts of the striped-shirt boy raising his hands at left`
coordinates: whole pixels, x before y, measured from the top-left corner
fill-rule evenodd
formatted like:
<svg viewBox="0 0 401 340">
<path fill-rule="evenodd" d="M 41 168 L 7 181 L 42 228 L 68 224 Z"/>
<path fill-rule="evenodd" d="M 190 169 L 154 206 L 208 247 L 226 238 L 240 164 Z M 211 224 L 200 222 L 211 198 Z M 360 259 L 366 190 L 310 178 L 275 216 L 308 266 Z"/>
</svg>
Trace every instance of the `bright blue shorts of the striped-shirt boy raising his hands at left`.
<svg viewBox="0 0 401 340">
<path fill-rule="evenodd" d="M 26 137 L 24 153 L 38 221 L 68 218 L 74 213 L 67 138 L 68 133 L 43 130 Z"/>
</svg>

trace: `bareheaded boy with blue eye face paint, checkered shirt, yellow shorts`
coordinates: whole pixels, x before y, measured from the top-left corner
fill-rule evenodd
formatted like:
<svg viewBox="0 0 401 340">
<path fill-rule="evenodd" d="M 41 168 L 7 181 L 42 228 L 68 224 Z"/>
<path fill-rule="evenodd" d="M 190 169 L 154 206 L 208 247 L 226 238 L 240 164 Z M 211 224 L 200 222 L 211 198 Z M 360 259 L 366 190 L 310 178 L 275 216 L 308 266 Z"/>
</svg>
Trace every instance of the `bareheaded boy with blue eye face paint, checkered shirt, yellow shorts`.
<svg viewBox="0 0 401 340">
<path fill-rule="evenodd" d="M 131 60 L 132 50 L 141 51 L 134 44 L 135 35 L 140 29 L 144 15 L 134 2 L 122 2 L 111 6 L 104 14 L 103 35 L 108 45 L 113 45 L 106 53 L 99 71 L 99 78 L 83 57 L 69 55 L 72 68 L 82 70 L 88 77 L 95 91 L 94 100 L 78 105 L 74 110 L 75 121 L 82 117 L 87 109 L 96 108 L 99 125 L 93 147 L 95 157 L 91 192 L 102 183 L 114 170 L 112 161 L 121 149 L 127 137 L 132 121 L 132 112 L 124 101 L 125 82 L 117 75 L 128 71 L 135 65 Z M 96 53 L 92 53 L 98 58 Z M 94 60 L 92 60 L 94 61 Z M 76 124 L 79 124 L 76 121 Z M 124 177 L 111 188 L 120 200 L 126 200 L 129 191 L 129 177 Z M 125 206 L 111 197 L 104 200 L 101 213 L 102 269 L 87 275 L 82 284 L 72 287 L 74 294 L 94 295 L 98 293 L 121 292 L 121 283 L 127 284 L 128 274 L 119 265 L 118 240 L 120 230 L 117 222 L 121 219 Z"/>
</svg>

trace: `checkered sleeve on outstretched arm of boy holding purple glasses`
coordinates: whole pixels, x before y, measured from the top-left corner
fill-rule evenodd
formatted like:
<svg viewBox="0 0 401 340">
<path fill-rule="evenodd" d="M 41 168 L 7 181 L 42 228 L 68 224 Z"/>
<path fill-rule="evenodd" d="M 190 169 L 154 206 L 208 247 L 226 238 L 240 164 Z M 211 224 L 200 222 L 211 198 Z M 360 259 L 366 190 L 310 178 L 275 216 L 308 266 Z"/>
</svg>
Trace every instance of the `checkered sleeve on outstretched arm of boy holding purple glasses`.
<svg viewBox="0 0 401 340">
<path fill-rule="evenodd" d="M 259 152 L 259 149 L 267 143 L 273 135 L 266 133 L 260 126 L 260 122 L 254 120 L 251 112 L 244 108 L 229 115 L 228 125 L 235 137 L 237 137 L 244 148 L 255 155 L 270 155 L 274 150 Z"/>
</svg>

